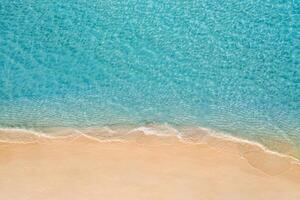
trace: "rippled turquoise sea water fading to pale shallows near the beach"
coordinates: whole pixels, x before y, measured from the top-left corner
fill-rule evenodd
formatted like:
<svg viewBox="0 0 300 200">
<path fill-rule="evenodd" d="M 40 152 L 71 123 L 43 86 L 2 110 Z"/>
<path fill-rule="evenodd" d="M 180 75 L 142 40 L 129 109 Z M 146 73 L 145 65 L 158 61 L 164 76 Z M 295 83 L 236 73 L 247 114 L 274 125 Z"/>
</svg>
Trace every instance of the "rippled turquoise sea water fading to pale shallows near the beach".
<svg viewBox="0 0 300 200">
<path fill-rule="evenodd" d="M 168 123 L 300 145 L 300 2 L 0 2 L 0 126 Z"/>
</svg>

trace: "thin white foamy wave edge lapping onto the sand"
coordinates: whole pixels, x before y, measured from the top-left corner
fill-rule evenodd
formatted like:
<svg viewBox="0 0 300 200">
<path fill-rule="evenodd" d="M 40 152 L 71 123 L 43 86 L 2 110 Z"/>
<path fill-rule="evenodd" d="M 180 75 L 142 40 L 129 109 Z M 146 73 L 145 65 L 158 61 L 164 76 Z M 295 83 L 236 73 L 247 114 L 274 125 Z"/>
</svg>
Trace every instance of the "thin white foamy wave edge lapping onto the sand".
<svg viewBox="0 0 300 200">
<path fill-rule="evenodd" d="M 294 164 L 300 165 L 300 160 L 294 156 L 283 154 L 274 150 L 271 150 L 264 146 L 261 143 L 250 141 L 247 139 L 239 138 L 232 136 L 228 133 L 223 133 L 220 131 L 215 131 L 210 128 L 205 127 L 192 127 L 193 129 L 197 129 L 200 132 L 204 132 L 207 136 L 220 139 L 223 141 L 229 141 L 233 143 L 238 144 L 248 144 L 254 147 L 260 148 L 262 151 L 268 154 L 276 155 L 283 158 L 289 158 L 293 161 Z M 39 139 L 47 139 L 47 140 L 58 140 L 58 139 L 71 139 L 76 140 L 77 138 L 83 136 L 88 139 L 97 141 L 97 142 L 126 142 L 126 139 L 124 137 L 122 138 L 113 138 L 111 135 L 115 135 L 118 133 L 118 136 L 121 136 L 121 134 L 125 133 L 125 136 L 131 135 L 131 134 L 143 134 L 145 136 L 158 136 L 158 137 L 176 137 L 178 141 L 183 143 L 195 143 L 195 144 L 206 144 L 205 139 L 200 141 L 189 141 L 185 134 L 182 133 L 182 131 L 174 128 L 173 126 L 170 126 L 168 124 L 162 124 L 162 125 L 150 125 L 150 126 L 139 126 L 134 128 L 128 128 L 126 127 L 125 130 L 123 128 L 119 128 L 117 130 L 114 130 L 108 126 L 104 127 L 97 127 L 97 128 L 84 128 L 84 129 L 75 129 L 75 128 L 60 128 L 57 129 L 59 132 L 68 132 L 69 134 L 57 134 L 57 135 L 51 135 L 49 132 L 43 132 L 43 131 L 36 131 L 33 129 L 24 129 L 24 128 L 0 128 L 0 143 L 8 143 L 8 144 L 30 144 L 30 143 L 38 143 Z M 109 137 L 97 137 L 97 135 L 90 134 L 93 131 L 100 131 L 100 132 L 107 132 L 109 133 Z M 122 133 L 119 131 L 123 130 Z M 3 134 L 6 134 L 8 136 L 9 134 L 15 134 L 15 135 L 23 135 L 25 138 L 16 138 L 16 137 L 8 137 L 3 139 L 1 136 Z M 24 140 L 22 140 L 24 139 Z"/>
</svg>

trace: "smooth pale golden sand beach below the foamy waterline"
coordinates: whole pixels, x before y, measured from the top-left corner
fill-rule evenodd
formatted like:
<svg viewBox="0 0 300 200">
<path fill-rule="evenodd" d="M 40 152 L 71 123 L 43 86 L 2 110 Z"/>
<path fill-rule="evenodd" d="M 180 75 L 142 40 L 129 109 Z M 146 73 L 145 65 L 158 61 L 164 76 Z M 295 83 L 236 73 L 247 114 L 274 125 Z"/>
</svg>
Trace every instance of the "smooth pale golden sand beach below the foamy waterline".
<svg viewBox="0 0 300 200">
<path fill-rule="evenodd" d="M 139 133 L 120 141 L 3 141 L 0 199 L 300 199 L 294 159 L 256 145 L 206 141 Z"/>
</svg>

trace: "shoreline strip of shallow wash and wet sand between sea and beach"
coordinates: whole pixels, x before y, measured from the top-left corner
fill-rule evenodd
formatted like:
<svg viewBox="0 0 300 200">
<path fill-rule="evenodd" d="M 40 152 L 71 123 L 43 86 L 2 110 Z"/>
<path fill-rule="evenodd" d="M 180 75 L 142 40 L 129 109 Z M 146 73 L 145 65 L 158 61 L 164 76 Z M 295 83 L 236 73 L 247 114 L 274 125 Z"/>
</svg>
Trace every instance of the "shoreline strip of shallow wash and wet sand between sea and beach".
<svg viewBox="0 0 300 200">
<path fill-rule="evenodd" d="M 112 126 L 113 127 L 113 126 Z M 187 130 L 187 132 L 186 132 Z M 183 133 L 182 133 L 183 131 Z M 190 134 L 191 132 L 191 134 Z M 0 143 L 16 143 L 27 144 L 36 142 L 40 139 L 65 139 L 69 137 L 86 136 L 92 140 L 99 142 L 110 141 L 126 141 L 135 134 L 154 135 L 159 137 L 177 137 L 184 143 L 206 144 L 206 139 L 221 140 L 224 142 L 238 143 L 241 145 L 251 145 L 257 147 L 266 153 L 274 154 L 279 157 L 292 159 L 300 164 L 300 158 L 283 152 L 272 150 L 257 141 L 244 139 L 241 137 L 214 131 L 205 127 L 183 126 L 182 129 L 176 128 L 168 124 L 150 124 L 148 126 L 108 126 L 88 127 L 88 128 L 68 128 L 68 127 L 52 127 L 43 128 L 41 130 L 25 129 L 25 128 L 3 128 L 0 127 Z M 3 136 L 5 139 L 3 139 Z M 24 141 L 23 141 L 24 139 Z M 42 141 L 42 140 L 41 140 Z"/>
</svg>

